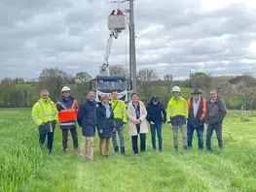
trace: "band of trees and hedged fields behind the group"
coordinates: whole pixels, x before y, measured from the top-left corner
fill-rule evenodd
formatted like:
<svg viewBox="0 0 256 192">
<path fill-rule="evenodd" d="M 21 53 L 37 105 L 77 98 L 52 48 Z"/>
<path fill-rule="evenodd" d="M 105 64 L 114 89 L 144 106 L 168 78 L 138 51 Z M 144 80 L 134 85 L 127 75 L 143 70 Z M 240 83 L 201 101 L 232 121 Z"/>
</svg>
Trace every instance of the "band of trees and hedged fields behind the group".
<svg viewBox="0 0 256 192">
<path fill-rule="evenodd" d="M 128 69 L 120 65 L 111 66 L 110 74 L 128 77 Z M 43 88 L 49 90 L 53 101 L 57 101 L 61 96 L 60 90 L 63 85 L 70 86 L 72 95 L 81 103 L 86 99 L 91 79 L 91 75 L 87 72 L 79 72 L 72 76 L 57 68 L 43 69 L 38 79 L 33 80 L 5 78 L 0 80 L 0 107 L 30 108 L 40 98 L 40 90 Z M 186 99 L 191 97 L 190 92 L 194 87 L 200 88 L 206 98 L 208 91 L 216 88 L 224 98 L 227 108 L 256 109 L 256 79 L 250 75 L 211 77 L 209 74 L 199 72 L 191 74 L 187 80 L 174 80 L 171 74 L 160 78 L 154 69 L 149 68 L 141 69 L 137 73 L 137 91 L 145 103 L 152 95 L 157 94 L 166 105 L 174 85 L 182 87 L 182 95 Z"/>
</svg>

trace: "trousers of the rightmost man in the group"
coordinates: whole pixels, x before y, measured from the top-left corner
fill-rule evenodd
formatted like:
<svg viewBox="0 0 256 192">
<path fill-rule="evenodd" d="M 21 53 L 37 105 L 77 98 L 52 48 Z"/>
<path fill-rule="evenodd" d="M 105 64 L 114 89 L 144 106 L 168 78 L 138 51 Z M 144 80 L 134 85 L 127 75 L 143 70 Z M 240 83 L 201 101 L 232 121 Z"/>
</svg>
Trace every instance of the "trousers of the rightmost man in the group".
<svg viewBox="0 0 256 192">
<path fill-rule="evenodd" d="M 215 130 L 216 137 L 218 140 L 219 147 L 223 147 L 222 142 L 222 123 L 208 124 L 207 133 L 206 133 L 206 148 L 211 150 L 211 136 L 213 134 L 213 130 Z"/>
</svg>

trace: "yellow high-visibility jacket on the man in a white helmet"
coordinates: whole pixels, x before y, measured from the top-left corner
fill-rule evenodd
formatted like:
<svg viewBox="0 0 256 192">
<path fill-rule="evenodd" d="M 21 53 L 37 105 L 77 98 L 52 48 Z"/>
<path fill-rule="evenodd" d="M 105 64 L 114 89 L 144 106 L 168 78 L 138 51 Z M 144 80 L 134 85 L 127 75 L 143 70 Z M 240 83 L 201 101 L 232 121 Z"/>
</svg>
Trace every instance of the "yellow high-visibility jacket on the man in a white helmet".
<svg viewBox="0 0 256 192">
<path fill-rule="evenodd" d="M 188 103 L 183 97 L 175 99 L 172 97 L 167 105 L 167 122 L 170 122 L 170 118 L 176 115 L 183 115 L 188 118 Z"/>
</svg>

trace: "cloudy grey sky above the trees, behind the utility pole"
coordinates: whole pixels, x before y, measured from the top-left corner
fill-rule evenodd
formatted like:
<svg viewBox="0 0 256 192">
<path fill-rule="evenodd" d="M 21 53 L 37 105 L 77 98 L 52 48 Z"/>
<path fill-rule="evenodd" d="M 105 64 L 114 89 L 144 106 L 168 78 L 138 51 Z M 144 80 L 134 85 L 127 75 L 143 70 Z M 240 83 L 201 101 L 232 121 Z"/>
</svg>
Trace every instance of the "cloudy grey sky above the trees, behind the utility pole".
<svg viewBox="0 0 256 192">
<path fill-rule="evenodd" d="M 52 67 L 96 76 L 107 16 L 117 8 L 111 0 L 0 0 L 0 79 L 37 78 Z M 188 77 L 190 68 L 256 73 L 255 0 L 136 0 L 134 8 L 138 70 L 175 79 Z M 113 40 L 109 63 L 128 67 L 128 30 Z"/>
</svg>

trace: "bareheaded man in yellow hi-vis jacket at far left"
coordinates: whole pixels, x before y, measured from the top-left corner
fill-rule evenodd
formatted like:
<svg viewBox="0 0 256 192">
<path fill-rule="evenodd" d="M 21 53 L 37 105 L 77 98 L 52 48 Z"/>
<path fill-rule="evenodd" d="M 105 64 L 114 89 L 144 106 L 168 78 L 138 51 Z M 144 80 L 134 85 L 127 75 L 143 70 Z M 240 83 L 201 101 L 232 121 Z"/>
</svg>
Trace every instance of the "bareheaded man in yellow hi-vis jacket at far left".
<svg viewBox="0 0 256 192">
<path fill-rule="evenodd" d="M 54 143 L 57 110 L 55 103 L 49 98 L 48 90 L 43 89 L 41 91 L 41 99 L 32 108 L 32 118 L 39 129 L 39 144 L 45 144 L 47 136 L 47 146 L 49 153 L 51 153 Z"/>
</svg>

